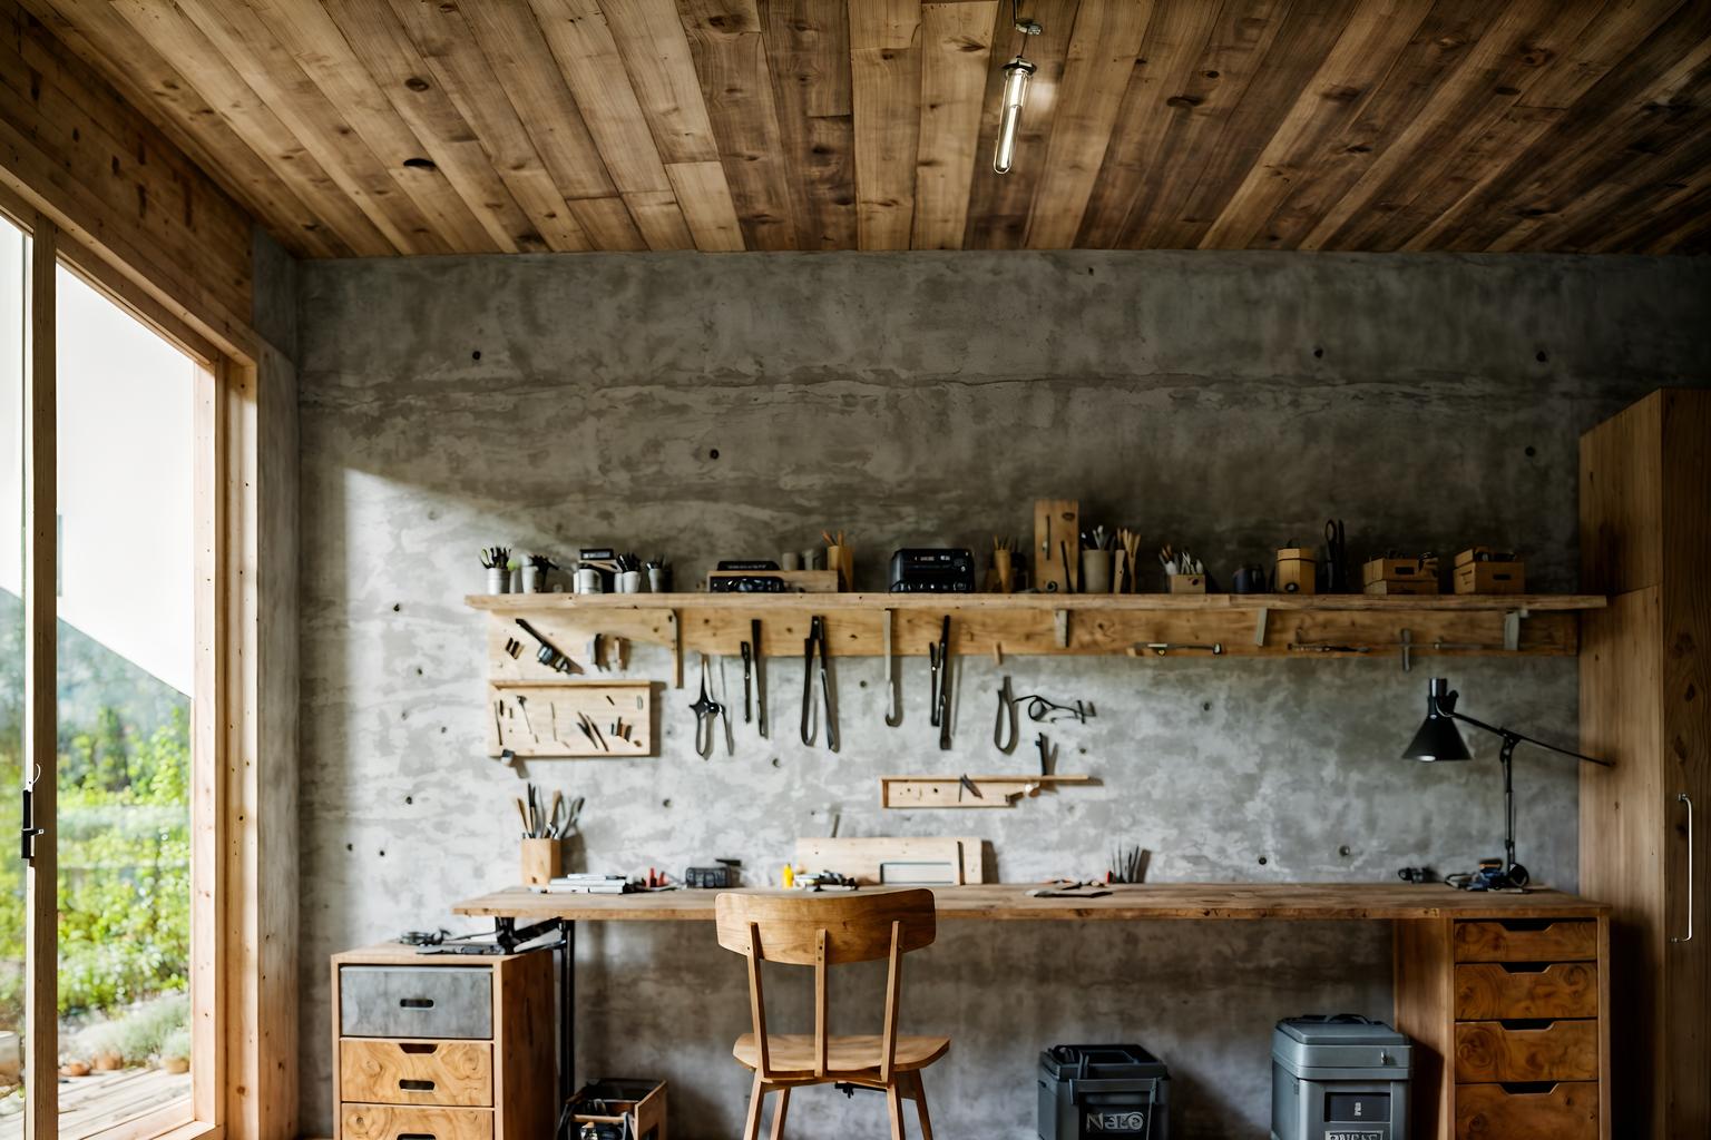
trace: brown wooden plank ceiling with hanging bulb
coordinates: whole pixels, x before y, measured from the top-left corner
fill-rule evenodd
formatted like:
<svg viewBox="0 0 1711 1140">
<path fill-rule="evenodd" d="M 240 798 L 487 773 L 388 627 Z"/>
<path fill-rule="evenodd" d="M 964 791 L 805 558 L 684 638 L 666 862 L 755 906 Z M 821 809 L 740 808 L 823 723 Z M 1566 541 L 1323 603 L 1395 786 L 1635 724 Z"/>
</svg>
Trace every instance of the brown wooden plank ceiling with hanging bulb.
<svg viewBox="0 0 1711 1140">
<path fill-rule="evenodd" d="M 1704 0 L 24 0 L 303 256 L 1711 246 Z"/>
</svg>

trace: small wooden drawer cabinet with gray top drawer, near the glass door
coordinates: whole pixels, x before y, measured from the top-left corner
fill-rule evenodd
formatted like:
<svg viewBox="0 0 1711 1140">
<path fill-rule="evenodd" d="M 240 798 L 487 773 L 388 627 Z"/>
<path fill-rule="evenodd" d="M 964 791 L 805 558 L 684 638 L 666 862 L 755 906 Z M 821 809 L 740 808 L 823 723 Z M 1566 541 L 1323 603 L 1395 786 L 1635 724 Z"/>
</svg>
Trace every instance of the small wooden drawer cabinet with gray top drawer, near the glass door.
<svg viewBox="0 0 1711 1140">
<path fill-rule="evenodd" d="M 337 1140 L 542 1140 L 558 1118 L 553 955 L 332 959 Z"/>
</svg>

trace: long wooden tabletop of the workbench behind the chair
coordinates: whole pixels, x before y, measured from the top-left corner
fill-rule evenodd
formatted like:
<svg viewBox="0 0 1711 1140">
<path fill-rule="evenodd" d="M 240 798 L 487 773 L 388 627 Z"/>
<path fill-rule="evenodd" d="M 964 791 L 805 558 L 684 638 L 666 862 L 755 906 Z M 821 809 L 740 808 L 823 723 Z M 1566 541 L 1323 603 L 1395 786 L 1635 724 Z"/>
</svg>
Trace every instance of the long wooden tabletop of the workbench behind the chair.
<svg viewBox="0 0 1711 1140">
<path fill-rule="evenodd" d="M 1560 890 L 1487 894 L 1442 884 L 1205 884 L 1172 882 L 1109 887 L 1092 897 L 1030 897 L 1040 884 L 980 884 L 932 887 L 941 918 L 1004 920 L 1148 920 L 1148 918 L 1588 918 L 1610 908 Z M 885 890 L 886 887 L 862 887 Z M 744 892 L 763 892 L 748 887 Z M 719 890 L 655 890 L 647 894 L 541 894 L 512 887 L 452 908 L 457 914 L 541 921 L 712 921 Z M 794 892 L 792 892 L 794 894 Z"/>
</svg>

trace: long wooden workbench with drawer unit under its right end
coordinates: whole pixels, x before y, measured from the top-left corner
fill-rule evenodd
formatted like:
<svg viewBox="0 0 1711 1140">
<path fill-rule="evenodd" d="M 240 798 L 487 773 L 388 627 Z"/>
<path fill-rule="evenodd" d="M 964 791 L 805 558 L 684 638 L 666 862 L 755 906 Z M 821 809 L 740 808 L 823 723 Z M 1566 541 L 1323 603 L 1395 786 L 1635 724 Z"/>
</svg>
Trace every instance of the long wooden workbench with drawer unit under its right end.
<svg viewBox="0 0 1711 1140">
<path fill-rule="evenodd" d="M 1394 1024 L 1415 1041 L 1413 1135 L 1608 1140 L 1608 911 L 1560 890 L 1483 894 L 1442 884 L 1145 884 L 1104 897 L 1030 897 L 1035 884 L 934 887 L 944 920 L 1389 921 Z M 871 887 L 869 890 L 883 890 Z M 713 921 L 717 890 L 539 894 L 459 902 L 505 926 L 558 921 L 563 1056 L 575 1056 L 578 921 Z M 566 1061 L 566 1068 L 571 1065 Z"/>
</svg>

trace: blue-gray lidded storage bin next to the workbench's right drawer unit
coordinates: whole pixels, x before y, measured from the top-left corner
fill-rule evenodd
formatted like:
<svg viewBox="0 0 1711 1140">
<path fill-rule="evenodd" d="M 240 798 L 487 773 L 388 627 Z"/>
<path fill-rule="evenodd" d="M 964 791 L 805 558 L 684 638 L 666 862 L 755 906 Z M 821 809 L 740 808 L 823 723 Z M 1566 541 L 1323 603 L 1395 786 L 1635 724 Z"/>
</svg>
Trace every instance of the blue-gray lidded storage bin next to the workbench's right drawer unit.
<svg viewBox="0 0 1711 1140">
<path fill-rule="evenodd" d="M 1408 1140 L 1413 1044 L 1357 1014 L 1271 1032 L 1271 1140 Z"/>
</svg>

